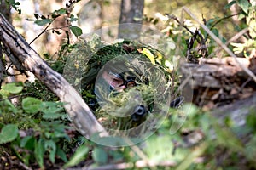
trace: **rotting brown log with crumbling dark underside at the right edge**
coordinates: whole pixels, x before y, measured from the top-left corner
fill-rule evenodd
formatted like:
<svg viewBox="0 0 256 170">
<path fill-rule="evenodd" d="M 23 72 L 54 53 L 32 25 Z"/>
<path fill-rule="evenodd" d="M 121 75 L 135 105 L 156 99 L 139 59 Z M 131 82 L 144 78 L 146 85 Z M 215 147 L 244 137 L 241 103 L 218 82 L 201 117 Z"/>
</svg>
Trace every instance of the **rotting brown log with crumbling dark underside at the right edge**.
<svg viewBox="0 0 256 170">
<path fill-rule="evenodd" d="M 194 92 L 193 103 L 212 109 L 250 97 L 256 91 L 256 83 L 241 65 L 255 74 L 255 60 L 226 57 L 201 59 L 201 64 L 184 63 L 181 73 Z"/>
</svg>

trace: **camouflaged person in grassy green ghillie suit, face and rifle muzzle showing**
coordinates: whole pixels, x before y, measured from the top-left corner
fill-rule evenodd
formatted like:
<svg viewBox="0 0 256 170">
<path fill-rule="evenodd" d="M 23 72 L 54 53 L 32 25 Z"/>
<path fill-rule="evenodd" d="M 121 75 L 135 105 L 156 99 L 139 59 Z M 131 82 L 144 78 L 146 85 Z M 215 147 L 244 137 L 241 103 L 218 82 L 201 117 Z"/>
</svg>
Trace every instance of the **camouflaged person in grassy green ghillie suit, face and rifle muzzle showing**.
<svg viewBox="0 0 256 170">
<path fill-rule="evenodd" d="M 170 103 L 176 107 L 182 102 L 171 102 L 173 77 L 164 60 L 160 51 L 141 42 L 105 45 L 95 36 L 76 45 L 64 75 L 104 127 L 127 130 L 164 118 Z"/>
</svg>

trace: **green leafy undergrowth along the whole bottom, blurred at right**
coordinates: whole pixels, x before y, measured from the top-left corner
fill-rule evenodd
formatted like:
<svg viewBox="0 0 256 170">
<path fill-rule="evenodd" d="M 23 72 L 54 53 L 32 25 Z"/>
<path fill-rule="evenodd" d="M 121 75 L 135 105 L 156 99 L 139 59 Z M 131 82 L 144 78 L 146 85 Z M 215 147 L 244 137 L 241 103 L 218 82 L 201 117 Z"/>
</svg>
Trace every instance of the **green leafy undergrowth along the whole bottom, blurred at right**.
<svg viewBox="0 0 256 170">
<path fill-rule="evenodd" d="M 22 94 L 22 87 L 21 84 L 7 84 L 0 92 L 9 96 Z M 180 112 L 170 110 L 169 118 L 143 144 L 109 150 L 91 143 L 75 131 L 63 109 L 65 104 L 26 97 L 17 106 L 9 99 L 2 99 L 0 105 L 0 154 L 4 157 L 11 154 L 15 156 L 13 161 L 21 161 L 27 167 L 50 168 L 56 164 L 57 167 L 64 164 L 64 167 L 70 167 L 93 160 L 94 166 L 125 161 L 125 166 L 138 168 L 139 162 L 143 160 L 160 169 L 169 166 L 177 169 L 215 169 L 218 166 L 255 168 L 256 111 L 247 116 L 246 127 L 237 129 L 232 122 L 220 127 L 209 113 L 195 105 L 183 105 Z M 183 111 L 189 111 L 187 117 L 182 116 Z M 176 115 L 172 115 L 172 112 Z M 173 126 L 178 126 L 184 118 L 186 121 L 175 133 Z M 198 133 L 199 139 L 195 138 L 195 143 L 184 142 L 186 137 L 183 133 L 188 131 Z M 253 137 L 244 144 L 241 138 L 236 137 L 236 131 L 243 132 L 243 135 L 251 133 Z M 192 137 L 190 140 L 193 140 Z M 188 147 L 187 144 L 191 145 Z M 221 161 L 221 165 L 217 164 L 218 161 Z M 8 167 L 9 161 L 5 161 L 4 166 Z"/>
</svg>

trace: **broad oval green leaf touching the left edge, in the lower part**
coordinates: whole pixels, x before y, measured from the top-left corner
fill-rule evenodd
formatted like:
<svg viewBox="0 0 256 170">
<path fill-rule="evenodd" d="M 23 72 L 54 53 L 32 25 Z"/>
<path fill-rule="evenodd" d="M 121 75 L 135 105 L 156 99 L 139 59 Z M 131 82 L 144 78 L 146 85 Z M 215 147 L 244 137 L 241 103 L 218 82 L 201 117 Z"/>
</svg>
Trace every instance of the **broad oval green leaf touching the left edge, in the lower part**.
<svg viewBox="0 0 256 170">
<path fill-rule="evenodd" d="M 14 124 L 5 125 L 0 133 L 0 144 L 6 144 L 18 137 L 19 130 Z"/>
</svg>

